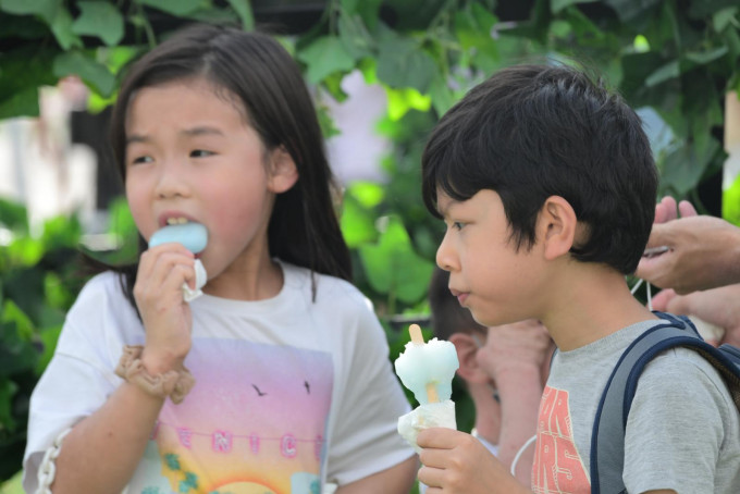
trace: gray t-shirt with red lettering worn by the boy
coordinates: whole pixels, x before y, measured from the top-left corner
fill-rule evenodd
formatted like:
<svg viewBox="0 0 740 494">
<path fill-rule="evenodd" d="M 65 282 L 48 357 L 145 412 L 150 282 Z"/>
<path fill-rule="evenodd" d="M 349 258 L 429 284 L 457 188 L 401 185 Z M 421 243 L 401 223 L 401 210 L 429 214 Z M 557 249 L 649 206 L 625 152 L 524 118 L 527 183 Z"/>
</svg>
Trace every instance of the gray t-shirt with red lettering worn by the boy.
<svg viewBox="0 0 740 494">
<path fill-rule="evenodd" d="M 540 406 L 532 469 L 535 493 L 590 493 L 591 430 L 601 393 L 644 321 L 558 353 Z M 686 348 L 667 350 L 642 373 L 625 437 L 629 493 L 740 493 L 740 418 L 717 371 Z"/>
</svg>

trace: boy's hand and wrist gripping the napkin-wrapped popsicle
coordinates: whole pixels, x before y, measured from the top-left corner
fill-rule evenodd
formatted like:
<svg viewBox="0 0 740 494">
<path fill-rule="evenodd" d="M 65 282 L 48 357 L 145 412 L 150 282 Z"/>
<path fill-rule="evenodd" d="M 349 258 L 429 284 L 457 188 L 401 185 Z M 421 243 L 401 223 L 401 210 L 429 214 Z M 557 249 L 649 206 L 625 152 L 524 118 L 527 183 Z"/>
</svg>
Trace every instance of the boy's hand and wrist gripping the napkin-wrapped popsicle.
<svg viewBox="0 0 740 494">
<path fill-rule="evenodd" d="M 425 429 L 417 443 L 427 494 L 529 493 L 480 441 L 452 429 Z"/>
</svg>

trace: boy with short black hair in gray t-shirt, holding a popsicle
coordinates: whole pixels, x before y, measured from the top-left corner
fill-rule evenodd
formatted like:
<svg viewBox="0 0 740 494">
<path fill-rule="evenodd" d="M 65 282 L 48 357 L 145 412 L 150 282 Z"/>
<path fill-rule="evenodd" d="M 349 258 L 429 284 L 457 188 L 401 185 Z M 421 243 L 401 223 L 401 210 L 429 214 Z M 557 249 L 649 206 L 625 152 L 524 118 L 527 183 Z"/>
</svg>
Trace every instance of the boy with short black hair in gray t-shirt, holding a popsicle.
<svg viewBox="0 0 740 494">
<path fill-rule="evenodd" d="M 588 493 L 590 436 L 621 353 L 659 320 L 632 273 L 650 235 L 657 174 L 636 113 L 564 66 L 503 70 L 440 121 L 423 198 L 447 231 L 436 261 L 484 325 L 534 318 L 560 351 L 540 404 L 532 490 Z M 714 368 L 668 350 L 640 378 L 622 478 L 638 493 L 740 492 L 740 420 Z M 469 435 L 422 431 L 428 493 L 527 492 Z"/>
</svg>

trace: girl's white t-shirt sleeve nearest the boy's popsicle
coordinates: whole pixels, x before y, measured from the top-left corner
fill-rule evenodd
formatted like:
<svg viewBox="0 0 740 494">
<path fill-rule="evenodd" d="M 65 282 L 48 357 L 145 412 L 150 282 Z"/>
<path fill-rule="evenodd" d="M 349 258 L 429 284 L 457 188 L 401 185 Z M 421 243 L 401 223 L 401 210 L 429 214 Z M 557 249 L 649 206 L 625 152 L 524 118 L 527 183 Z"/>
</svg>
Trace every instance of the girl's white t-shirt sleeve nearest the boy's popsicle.
<svg viewBox="0 0 740 494">
<path fill-rule="evenodd" d="M 358 312 L 355 341 L 345 346 L 347 380 L 328 459 L 326 478 L 340 485 L 414 455 L 397 432 L 398 417 L 410 406 L 388 360 L 385 333 L 370 309 Z"/>
</svg>

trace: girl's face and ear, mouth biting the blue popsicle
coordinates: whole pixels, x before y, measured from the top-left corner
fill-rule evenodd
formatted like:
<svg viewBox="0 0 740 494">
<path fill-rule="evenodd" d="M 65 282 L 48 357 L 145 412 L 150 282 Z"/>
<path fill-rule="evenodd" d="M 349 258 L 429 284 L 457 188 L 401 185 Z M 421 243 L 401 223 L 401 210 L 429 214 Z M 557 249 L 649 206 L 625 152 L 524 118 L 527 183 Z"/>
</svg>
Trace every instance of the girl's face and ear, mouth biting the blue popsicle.
<svg viewBox="0 0 740 494">
<path fill-rule="evenodd" d="M 138 90 L 126 118 L 134 221 L 147 240 L 171 219 L 202 223 L 209 285 L 270 262 L 274 195 L 297 180 L 289 155 L 267 152 L 238 104 L 207 82 L 182 81 Z"/>
</svg>

